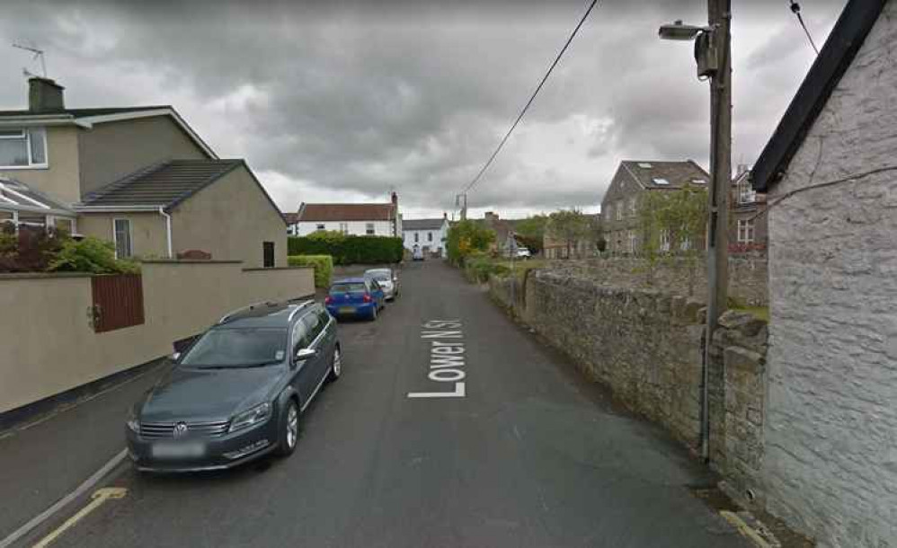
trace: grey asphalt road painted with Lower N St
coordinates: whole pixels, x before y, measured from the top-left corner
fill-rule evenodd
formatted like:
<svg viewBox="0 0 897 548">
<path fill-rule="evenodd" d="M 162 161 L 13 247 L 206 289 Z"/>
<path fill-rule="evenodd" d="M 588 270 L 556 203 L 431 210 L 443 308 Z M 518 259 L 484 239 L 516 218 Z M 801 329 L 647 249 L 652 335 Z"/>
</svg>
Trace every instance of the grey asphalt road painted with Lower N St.
<svg viewBox="0 0 897 548">
<path fill-rule="evenodd" d="M 457 270 L 412 264 L 402 283 L 376 323 L 341 324 L 342 379 L 289 459 L 173 477 L 123 466 L 109 484 L 127 495 L 52 545 L 749 545 L 691 494 L 710 478 L 679 446 L 614 411 Z M 423 339 L 436 320 L 463 338 Z M 428 378 L 432 340 L 464 343 L 464 397 L 408 397 L 455 389 Z"/>
</svg>

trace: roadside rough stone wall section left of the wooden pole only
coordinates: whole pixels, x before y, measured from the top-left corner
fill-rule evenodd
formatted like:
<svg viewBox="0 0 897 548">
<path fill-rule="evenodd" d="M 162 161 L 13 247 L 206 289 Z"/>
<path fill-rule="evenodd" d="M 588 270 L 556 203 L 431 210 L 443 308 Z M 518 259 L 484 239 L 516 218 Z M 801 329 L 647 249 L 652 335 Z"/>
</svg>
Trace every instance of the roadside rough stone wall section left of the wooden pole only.
<svg viewBox="0 0 897 548">
<path fill-rule="evenodd" d="M 492 278 L 490 293 L 607 384 L 629 409 L 688 446 L 700 438 L 702 305 L 652 289 L 596 284 L 553 270 Z"/>
</svg>

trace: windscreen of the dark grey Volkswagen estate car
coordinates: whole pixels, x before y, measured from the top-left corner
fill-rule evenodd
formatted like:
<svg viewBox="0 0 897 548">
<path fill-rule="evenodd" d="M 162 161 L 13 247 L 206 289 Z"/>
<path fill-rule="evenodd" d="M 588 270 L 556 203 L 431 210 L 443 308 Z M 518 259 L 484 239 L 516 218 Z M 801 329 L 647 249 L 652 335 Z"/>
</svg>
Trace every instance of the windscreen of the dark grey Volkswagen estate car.
<svg viewBox="0 0 897 548">
<path fill-rule="evenodd" d="M 253 367 L 277 363 L 286 356 L 287 330 L 275 328 L 213 329 L 181 360 L 190 367 Z"/>
</svg>

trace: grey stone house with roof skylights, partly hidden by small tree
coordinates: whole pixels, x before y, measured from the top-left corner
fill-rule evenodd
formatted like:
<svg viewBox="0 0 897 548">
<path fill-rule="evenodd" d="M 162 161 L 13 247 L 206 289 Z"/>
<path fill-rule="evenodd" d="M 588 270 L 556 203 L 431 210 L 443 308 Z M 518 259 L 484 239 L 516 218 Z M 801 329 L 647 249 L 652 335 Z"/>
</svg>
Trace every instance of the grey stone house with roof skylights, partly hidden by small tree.
<svg viewBox="0 0 897 548">
<path fill-rule="evenodd" d="M 608 191 L 601 199 L 601 222 L 607 249 L 615 253 L 639 250 L 638 204 L 645 192 L 668 192 L 685 185 L 707 186 L 710 175 L 692 160 L 620 162 Z M 685 245 L 703 247 L 703 242 Z"/>
</svg>

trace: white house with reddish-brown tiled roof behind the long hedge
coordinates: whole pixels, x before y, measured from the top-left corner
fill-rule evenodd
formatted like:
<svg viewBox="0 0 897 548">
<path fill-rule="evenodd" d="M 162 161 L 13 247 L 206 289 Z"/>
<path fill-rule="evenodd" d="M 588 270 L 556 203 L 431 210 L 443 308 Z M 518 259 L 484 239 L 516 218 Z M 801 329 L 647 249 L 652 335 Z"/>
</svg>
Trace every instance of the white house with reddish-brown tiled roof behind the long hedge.
<svg viewBox="0 0 897 548">
<path fill-rule="evenodd" d="M 320 230 L 355 236 L 402 236 L 399 198 L 393 192 L 388 204 L 306 204 L 299 205 L 293 232 L 307 236 Z"/>
</svg>

